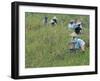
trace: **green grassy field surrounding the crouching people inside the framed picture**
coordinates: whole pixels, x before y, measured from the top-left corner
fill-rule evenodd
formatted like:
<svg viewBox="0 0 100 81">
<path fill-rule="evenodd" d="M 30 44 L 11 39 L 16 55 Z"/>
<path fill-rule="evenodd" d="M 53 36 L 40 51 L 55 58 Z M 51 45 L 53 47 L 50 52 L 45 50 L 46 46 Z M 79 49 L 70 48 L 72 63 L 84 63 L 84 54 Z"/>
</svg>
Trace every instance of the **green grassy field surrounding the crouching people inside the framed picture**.
<svg viewBox="0 0 100 81">
<path fill-rule="evenodd" d="M 48 20 L 53 16 L 58 18 L 58 24 L 44 25 L 43 18 Z M 89 47 L 85 52 L 70 53 L 71 31 L 68 23 L 72 19 L 81 18 L 83 33 L 80 37 L 89 42 L 89 16 L 73 14 L 25 13 L 25 67 L 57 67 L 80 66 L 89 64 Z"/>
</svg>

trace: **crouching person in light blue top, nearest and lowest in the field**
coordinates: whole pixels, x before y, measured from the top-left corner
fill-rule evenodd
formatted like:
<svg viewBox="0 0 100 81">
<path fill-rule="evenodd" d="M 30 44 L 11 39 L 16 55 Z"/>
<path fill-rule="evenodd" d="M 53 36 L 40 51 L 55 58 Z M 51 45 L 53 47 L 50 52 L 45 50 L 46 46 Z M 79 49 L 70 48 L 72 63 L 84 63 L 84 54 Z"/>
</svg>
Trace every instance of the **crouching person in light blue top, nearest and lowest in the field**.
<svg viewBox="0 0 100 81">
<path fill-rule="evenodd" d="M 82 52 L 84 52 L 85 41 L 80 39 L 79 37 L 73 37 L 70 42 L 70 50 L 71 51 L 81 50 Z"/>
</svg>

